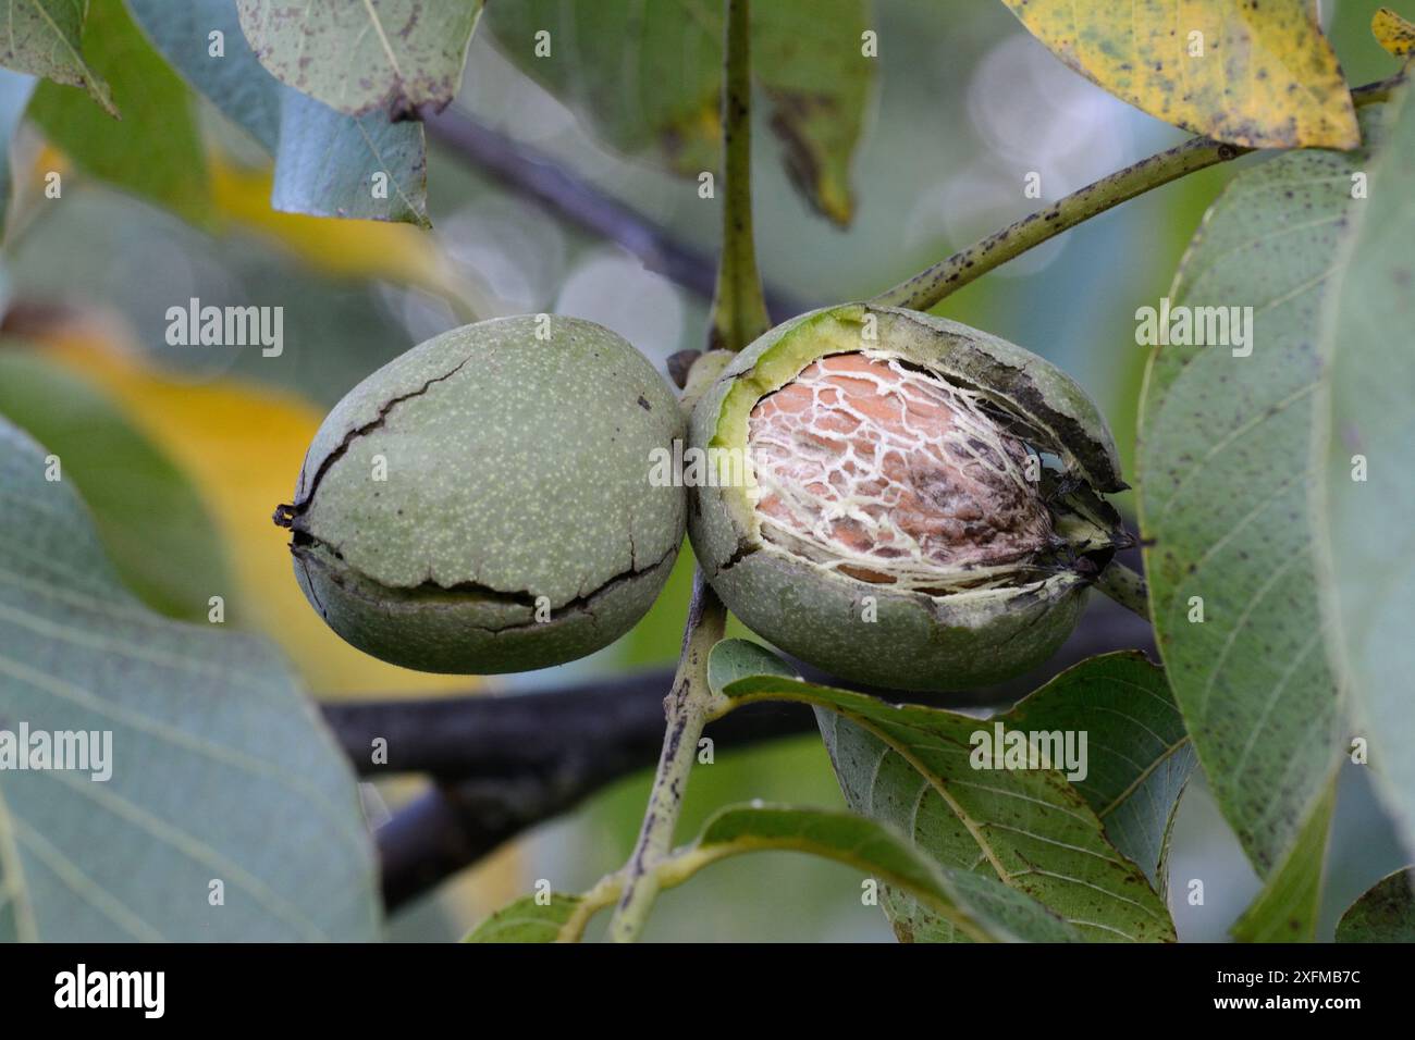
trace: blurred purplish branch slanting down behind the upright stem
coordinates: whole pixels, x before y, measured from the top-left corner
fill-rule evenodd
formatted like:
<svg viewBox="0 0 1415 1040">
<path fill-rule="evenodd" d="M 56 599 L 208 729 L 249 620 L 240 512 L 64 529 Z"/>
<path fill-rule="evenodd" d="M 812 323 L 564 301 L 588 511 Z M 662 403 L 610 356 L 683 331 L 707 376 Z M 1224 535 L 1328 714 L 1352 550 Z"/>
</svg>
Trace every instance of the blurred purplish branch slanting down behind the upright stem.
<svg viewBox="0 0 1415 1040">
<path fill-rule="evenodd" d="M 576 228 L 614 242 L 638 258 L 648 270 L 703 300 L 712 300 L 717 280 L 717 262 L 712 255 L 681 242 L 666 228 L 576 177 L 552 158 L 492 130 L 457 108 L 440 113 L 424 110 L 422 116 L 427 134 L 434 141 L 507 190 L 536 202 Z M 766 296 L 773 321 L 784 321 L 811 310 L 808 304 L 770 284 Z"/>
</svg>

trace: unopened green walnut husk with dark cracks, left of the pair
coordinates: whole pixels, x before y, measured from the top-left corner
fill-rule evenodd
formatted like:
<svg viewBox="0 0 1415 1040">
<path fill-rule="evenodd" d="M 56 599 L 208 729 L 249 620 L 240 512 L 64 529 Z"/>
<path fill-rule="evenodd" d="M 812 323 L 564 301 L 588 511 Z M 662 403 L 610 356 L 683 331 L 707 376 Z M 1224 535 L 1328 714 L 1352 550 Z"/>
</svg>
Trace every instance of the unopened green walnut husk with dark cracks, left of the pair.
<svg viewBox="0 0 1415 1040">
<path fill-rule="evenodd" d="M 350 391 L 276 522 L 304 594 L 359 649 L 427 672 L 543 668 L 608 645 L 662 590 L 685 494 L 649 483 L 651 458 L 682 434 L 668 385 L 614 333 L 483 321 Z"/>
</svg>

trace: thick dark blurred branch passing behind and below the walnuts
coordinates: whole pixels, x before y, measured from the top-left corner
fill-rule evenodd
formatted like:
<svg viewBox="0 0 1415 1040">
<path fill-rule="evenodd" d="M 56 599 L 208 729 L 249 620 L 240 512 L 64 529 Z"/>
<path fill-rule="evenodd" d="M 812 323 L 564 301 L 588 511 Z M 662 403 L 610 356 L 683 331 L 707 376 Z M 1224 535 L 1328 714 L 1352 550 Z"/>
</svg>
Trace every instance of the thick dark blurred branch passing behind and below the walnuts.
<svg viewBox="0 0 1415 1040">
<path fill-rule="evenodd" d="M 870 692 L 937 707 L 998 707 L 1088 657 L 1132 648 L 1153 657 L 1150 627 L 1095 597 L 1067 645 L 1037 672 L 968 693 Z M 801 669 L 807 679 L 829 682 Z M 323 705 L 362 775 L 426 773 L 433 780 L 378 829 L 388 910 L 610 782 L 652 767 L 671 682 L 672 669 L 664 668 L 533 693 Z M 706 730 L 715 753 L 814 732 L 814 713 L 799 705 L 753 705 Z M 371 761 L 378 737 L 388 741 L 386 765 Z"/>
</svg>

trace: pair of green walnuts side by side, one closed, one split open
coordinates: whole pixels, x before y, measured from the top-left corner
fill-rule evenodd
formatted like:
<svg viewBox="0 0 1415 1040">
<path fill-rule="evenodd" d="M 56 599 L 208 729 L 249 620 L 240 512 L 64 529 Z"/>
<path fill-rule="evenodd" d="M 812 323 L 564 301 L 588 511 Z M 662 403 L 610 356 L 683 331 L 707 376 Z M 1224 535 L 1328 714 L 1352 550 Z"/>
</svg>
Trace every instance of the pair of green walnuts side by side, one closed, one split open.
<svg viewBox="0 0 1415 1040">
<path fill-rule="evenodd" d="M 664 463 L 689 456 L 683 487 Z M 608 645 L 686 526 L 727 607 L 785 652 L 958 689 L 1065 640 L 1124 543 L 1101 498 L 1124 487 L 1074 381 L 952 321 L 805 314 L 685 419 L 618 335 L 528 316 L 439 335 L 355 386 L 276 521 L 324 620 L 410 668 L 516 672 Z"/>
</svg>

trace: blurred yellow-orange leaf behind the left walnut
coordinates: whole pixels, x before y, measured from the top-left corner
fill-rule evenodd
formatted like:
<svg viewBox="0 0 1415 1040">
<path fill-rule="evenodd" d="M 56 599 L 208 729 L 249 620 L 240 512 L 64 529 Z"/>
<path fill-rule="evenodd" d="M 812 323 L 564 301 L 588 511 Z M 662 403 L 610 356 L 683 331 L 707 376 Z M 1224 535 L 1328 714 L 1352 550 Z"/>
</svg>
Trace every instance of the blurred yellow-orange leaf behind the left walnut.
<svg viewBox="0 0 1415 1040">
<path fill-rule="evenodd" d="M 366 225 L 365 225 L 366 226 Z M 222 378 L 178 382 L 139 361 L 96 320 L 27 330 L 45 355 L 113 396 L 129 419 L 181 466 L 216 518 L 238 601 L 289 654 L 311 692 L 388 696 L 466 692 L 477 679 L 427 675 L 371 658 L 344 642 L 306 601 L 286 535 L 270 521 L 290 501 L 320 413 L 303 399 Z M 160 518 L 157 518 L 160 519 Z M 160 539 L 153 539 L 160 552 Z"/>
</svg>

